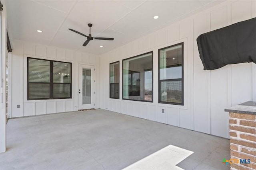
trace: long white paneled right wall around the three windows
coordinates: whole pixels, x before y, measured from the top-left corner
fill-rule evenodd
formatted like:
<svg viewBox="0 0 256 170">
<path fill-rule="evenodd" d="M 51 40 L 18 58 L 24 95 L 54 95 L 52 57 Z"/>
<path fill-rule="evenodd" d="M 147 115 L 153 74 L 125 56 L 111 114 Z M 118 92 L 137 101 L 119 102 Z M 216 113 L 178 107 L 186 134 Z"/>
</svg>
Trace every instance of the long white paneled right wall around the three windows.
<svg viewBox="0 0 256 170">
<path fill-rule="evenodd" d="M 227 1 L 100 56 L 100 108 L 229 138 L 225 108 L 256 100 L 254 63 L 203 70 L 196 38 L 256 17 L 255 0 Z M 158 49 L 184 42 L 184 106 L 158 104 Z M 109 99 L 109 64 L 154 51 L 154 102 Z M 165 113 L 162 113 L 165 109 Z"/>
</svg>

